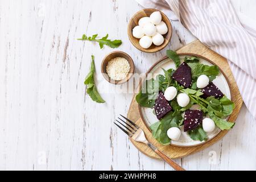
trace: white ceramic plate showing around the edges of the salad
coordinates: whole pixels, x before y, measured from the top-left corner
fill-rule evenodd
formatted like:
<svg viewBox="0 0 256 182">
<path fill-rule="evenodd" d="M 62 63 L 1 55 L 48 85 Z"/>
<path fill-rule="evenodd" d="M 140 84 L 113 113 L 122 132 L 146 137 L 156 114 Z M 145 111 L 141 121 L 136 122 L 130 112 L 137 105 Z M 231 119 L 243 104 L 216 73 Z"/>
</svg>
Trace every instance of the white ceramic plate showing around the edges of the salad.
<svg viewBox="0 0 256 182">
<path fill-rule="evenodd" d="M 192 55 L 192 54 L 189 54 L 189 53 L 186 54 L 186 55 L 180 55 L 180 60 L 184 60 L 185 56 L 197 56 L 200 60 L 200 63 L 206 64 L 206 65 L 213 65 L 212 63 L 210 63 L 210 61 L 206 60 L 204 57 L 199 56 L 199 55 Z M 151 73 L 152 75 L 154 75 L 154 77 L 156 77 L 156 75 L 159 75 L 159 74 L 164 75 L 162 68 L 164 68 L 166 70 L 171 69 L 171 68 L 176 69 L 174 61 L 172 61 L 169 58 L 166 58 L 166 59 L 163 59 L 162 61 L 160 61 L 158 64 L 154 65 L 148 73 Z M 148 79 L 150 79 L 150 78 L 148 77 L 147 80 Z M 220 71 L 220 75 L 217 76 L 217 78 L 213 81 L 213 83 L 218 88 L 220 88 L 221 92 L 224 93 L 226 95 L 226 97 L 231 99 L 231 93 L 230 93 L 228 80 L 226 80 L 226 77 L 224 76 L 224 73 L 222 73 Z M 146 108 L 146 107 L 140 107 L 140 108 L 141 108 L 141 117 L 142 117 L 144 123 L 147 125 L 148 128 L 149 128 L 149 126 L 151 126 L 155 122 L 158 122 L 158 119 L 156 118 L 156 115 L 152 112 L 152 109 Z M 213 139 L 220 132 L 220 129 L 218 129 L 218 127 L 216 127 L 216 129 L 212 133 L 208 133 L 208 140 L 207 141 L 200 142 L 200 141 L 192 140 L 188 136 L 187 132 L 183 131 L 183 126 L 180 129 L 181 129 L 180 140 L 179 141 L 172 141 L 171 142 L 172 145 L 181 146 L 181 147 L 196 146 L 196 145 L 199 145 L 199 144 L 203 144 L 203 143 L 209 141 L 210 139 Z"/>
</svg>

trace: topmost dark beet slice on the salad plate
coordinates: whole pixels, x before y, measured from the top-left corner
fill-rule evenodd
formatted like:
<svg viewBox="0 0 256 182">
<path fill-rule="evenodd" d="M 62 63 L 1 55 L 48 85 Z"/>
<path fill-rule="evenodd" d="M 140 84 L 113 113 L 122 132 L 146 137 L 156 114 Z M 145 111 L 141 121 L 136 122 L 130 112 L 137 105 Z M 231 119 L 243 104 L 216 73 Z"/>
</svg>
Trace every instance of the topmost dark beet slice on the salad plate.
<svg viewBox="0 0 256 182">
<path fill-rule="evenodd" d="M 187 63 L 182 63 L 179 68 L 174 72 L 172 78 L 183 85 L 185 88 L 189 88 L 192 84 L 191 68 Z"/>
</svg>

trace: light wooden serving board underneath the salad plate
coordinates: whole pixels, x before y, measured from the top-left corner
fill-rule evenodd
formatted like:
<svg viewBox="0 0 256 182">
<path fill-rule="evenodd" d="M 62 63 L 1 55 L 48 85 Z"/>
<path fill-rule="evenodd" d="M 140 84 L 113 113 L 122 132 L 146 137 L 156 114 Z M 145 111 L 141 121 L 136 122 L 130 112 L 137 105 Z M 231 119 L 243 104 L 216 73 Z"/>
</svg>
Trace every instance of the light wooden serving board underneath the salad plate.
<svg viewBox="0 0 256 182">
<path fill-rule="evenodd" d="M 224 57 L 218 55 L 216 52 L 204 46 L 204 44 L 202 44 L 199 40 L 196 40 L 195 42 L 192 42 L 191 44 L 184 46 L 183 48 L 179 49 L 177 53 L 195 53 L 197 55 L 204 56 L 209 60 L 213 61 L 216 65 L 218 65 L 218 67 L 222 69 L 222 71 L 225 73 L 226 77 L 230 82 L 230 91 L 232 92 L 232 95 L 233 95 L 232 101 L 234 102 L 234 104 L 236 104 L 236 108 L 234 109 L 232 115 L 230 115 L 229 121 L 236 121 L 243 101 L 242 101 L 240 92 L 238 90 L 236 81 L 234 80 L 232 72 L 229 68 L 228 61 Z M 220 134 L 218 134 L 215 138 L 213 138 L 209 142 L 201 144 L 199 146 L 195 146 L 195 147 L 176 147 L 171 145 L 162 146 L 152 137 L 151 132 L 144 125 L 141 119 L 141 116 L 139 114 L 139 108 L 138 108 L 137 102 L 135 101 L 135 96 L 133 98 L 133 101 L 131 102 L 127 117 L 130 118 L 132 121 L 137 121 L 137 125 L 139 125 L 143 129 L 148 141 L 154 144 L 156 147 L 158 147 L 159 150 L 163 151 L 164 154 L 166 154 L 171 159 L 183 158 L 184 156 L 201 151 L 204 148 L 211 146 L 213 143 L 216 143 L 218 140 L 224 137 L 226 133 L 228 133 L 228 130 L 221 131 Z M 131 142 L 134 144 L 135 147 L 138 148 L 139 151 L 149 156 L 150 158 L 161 159 L 157 154 L 155 154 L 154 151 L 152 151 L 145 144 L 135 142 L 132 139 L 131 139 Z"/>
</svg>

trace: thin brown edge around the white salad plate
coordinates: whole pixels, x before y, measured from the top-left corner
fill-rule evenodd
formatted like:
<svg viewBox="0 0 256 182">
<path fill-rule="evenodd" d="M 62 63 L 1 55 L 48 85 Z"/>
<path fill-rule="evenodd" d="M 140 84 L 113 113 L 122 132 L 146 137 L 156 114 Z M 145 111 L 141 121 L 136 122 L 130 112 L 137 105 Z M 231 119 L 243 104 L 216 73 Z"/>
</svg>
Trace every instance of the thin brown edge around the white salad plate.
<svg viewBox="0 0 256 182">
<path fill-rule="evenodd" d="M 179 56 L 186 56 L 186 55 L 187 55 L 187 56 L 196 56 L 196 57 L 200 57 L 201 59 L 205 59 L 205 60 L 209 61 L 209 63 L 211 63 L 211 64 L 213 64 L 213 65 L 216 65 L 216 66 L 218 67 L 217 64 L 215 64 L 213 61 L 209 60 L 207 57 L 204 57 L 204 56 L 201 56 L 201 55 L 197 55 L 196 53 L 177 53 L 177 55 L 179 55 Z M 164 60 L 166 60 L 166 59 L 168 59 L 168 58 L 169 58 L 168 56 L 162 57 L 160 60 L 158 60 L 156 63 L 154 63 L 154 64 L 150 67 L 150 69 L 148 69 L 148 71 L 147 71 L 147 73 L 146 73 L 146 77 L 145 77 L 142 81 L 139 82 L 139 91 L 141 90 L 141 88 L 142 88 L 142 83 L 146 80 L 148 73 L 150 73 L 151 70 L 152 70 L 157 64 L 159 64 L 160 62 L 162 62 L 162 61 L 164 61 Z M 226 81 L 228 82 L 228 86 L 229 86 L 229 89 L 230 89 L 230 81 L 229 81 L 228 77 L 225 75 L 225 73 L 222 71 L 222 69 L 221 69 L 220 67 L 218 67 L 218 69 L 220 69 L 220 72 L 222 73 L 222 75 L 224 75 Z M 232 92 L 230 92 L 230 97 L 231 97 L 231 101 L 233 101 L 233 97 L 234 97 L 234 96 L 233 96 L 233 93 L 232 93 Z M 141 115 L 141 119 L 142 119 L 144 125 L 147 127 L 148 131 L 151 132 L 150 127 L 147 125 L 147 122 L 145 121 L 145 119 L 144 119 L 144 117 L 143 117 L 143 114 L 142 114 L 142 107 L 141 107 L 139 104 L 138 104 L 138 107 L 139 107 L 139 115 Z M 228 118 L 226 118 L 226 120 L 229 121 L 229 118 L 230 118 L 230 115 L 229 115 Z M 212 137 L 211 139 L 209 139 L 209 140 L 207 140 L 207 141 L 204 141 L 204 142 L 202 142 L 202 143 L 199 143 L 199 144 L 194 144 L 194 145 L 192 145 L 192 146 L 180 146 L 180 145 L 176 145 L 176 144 L 172 144 L 172 143 L 170 144 L 170 146 L 184 147 L 184 148 L 201 146 L 202 144 L 205 144 L 205 143 L 207 143 L 207 142 L 210 142 L 210 140 L 216 138 L 217 135 L 219 135 L 221 132 L 222 132 L 222 130 L 218 131 L 218 133 L 216 133 L 216 135 L 214 135 L 214 137 Z"/>
</svg>

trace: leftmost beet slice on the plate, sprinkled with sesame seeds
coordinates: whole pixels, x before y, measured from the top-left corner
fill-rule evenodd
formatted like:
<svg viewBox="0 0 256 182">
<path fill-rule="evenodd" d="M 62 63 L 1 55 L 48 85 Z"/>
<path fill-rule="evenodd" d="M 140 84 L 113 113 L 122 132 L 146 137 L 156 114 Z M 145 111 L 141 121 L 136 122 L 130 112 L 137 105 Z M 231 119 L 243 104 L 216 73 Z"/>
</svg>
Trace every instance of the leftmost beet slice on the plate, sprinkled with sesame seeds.
<svg viewBox="0 0 256 182">
<path fill-rule="evenodd" d="M 163 92 L 159 92 L 158 99 L 155 101 L 155 113 L 156 117 L 160 120 L 172 110 L 171 105 L 164 97 Z"/>
</svg>

